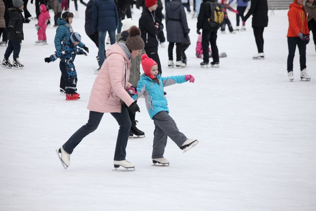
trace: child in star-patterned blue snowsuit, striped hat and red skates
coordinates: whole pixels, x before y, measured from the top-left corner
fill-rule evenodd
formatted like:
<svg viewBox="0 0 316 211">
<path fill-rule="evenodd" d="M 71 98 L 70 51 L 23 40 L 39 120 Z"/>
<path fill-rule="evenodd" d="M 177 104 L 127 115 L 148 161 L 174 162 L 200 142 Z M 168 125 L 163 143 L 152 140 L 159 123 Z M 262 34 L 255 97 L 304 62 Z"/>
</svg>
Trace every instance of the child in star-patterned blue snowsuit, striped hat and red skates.
<svg viewBox="0 0 316 211">
<path fill-rule="evenodd" d="M 65 80 L 66 100 L 80 99 L 79 94 L 76 93 L 77 72 L 73 63 L 77 54 L 87 56 L 87 53 L 76 47 L 80 41 L 80 34 L 74 32 L 70 37 L 66 37 L 62 40 L 61 49 L 59 51 L 56 51 L 55 54 L 45 58 L 45 62 L 47 63 L 56 61 L 57 58 L 60 58 L 61 62 L 59 68 Z"/>
</svg>

